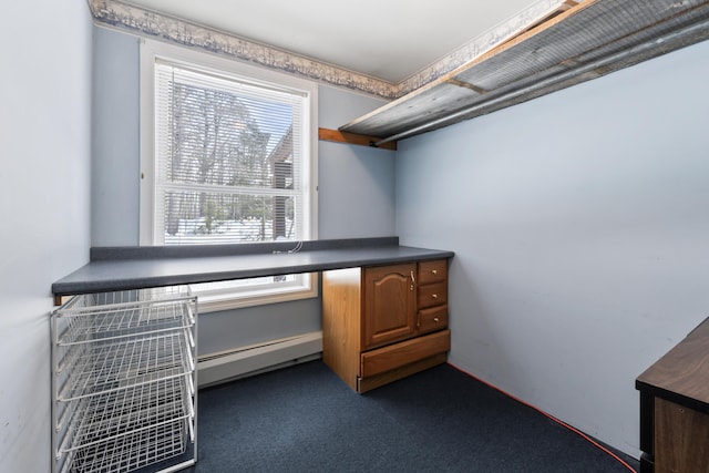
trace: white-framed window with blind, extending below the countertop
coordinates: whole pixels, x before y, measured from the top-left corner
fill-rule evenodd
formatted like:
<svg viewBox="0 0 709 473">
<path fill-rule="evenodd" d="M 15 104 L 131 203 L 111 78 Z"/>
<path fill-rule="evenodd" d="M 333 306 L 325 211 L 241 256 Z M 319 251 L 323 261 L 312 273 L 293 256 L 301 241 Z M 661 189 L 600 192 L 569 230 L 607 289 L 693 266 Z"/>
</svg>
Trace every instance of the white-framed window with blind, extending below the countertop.
<svg viewBox="0 0 709 473">
<path fill-rule="evenodd" d="M 141 244 L 315 239 L 315 85 L 162 43 L 141 58 Z M 317 280 L 193 289 L 208 311 L 314 297 Z"/>
</svg>

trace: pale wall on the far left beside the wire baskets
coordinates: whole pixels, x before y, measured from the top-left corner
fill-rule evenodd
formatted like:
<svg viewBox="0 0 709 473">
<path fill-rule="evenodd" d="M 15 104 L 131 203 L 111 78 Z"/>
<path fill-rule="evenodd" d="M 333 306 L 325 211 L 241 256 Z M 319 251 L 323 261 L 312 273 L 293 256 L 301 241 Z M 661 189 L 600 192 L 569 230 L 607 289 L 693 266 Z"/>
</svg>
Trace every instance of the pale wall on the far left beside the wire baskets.
<svg viewBox="0 0 709 473">
<path fill-rule="evenodd" d="M 91 14 L 4 2 L 0 470 L 50 471 L 51 284 L 89 259 Z"/>
</svg>

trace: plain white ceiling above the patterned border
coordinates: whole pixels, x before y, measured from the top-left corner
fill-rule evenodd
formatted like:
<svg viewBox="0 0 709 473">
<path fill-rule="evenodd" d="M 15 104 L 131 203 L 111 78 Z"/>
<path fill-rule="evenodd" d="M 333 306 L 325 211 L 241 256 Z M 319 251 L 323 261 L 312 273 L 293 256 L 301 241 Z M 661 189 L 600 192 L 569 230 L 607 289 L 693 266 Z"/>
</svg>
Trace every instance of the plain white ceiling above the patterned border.
<svg viewBox="0 0 709 473">
<path fill-rule="evenodd" d="M 129 0 L 393 83 L 538 0 Z"/>
</svg>

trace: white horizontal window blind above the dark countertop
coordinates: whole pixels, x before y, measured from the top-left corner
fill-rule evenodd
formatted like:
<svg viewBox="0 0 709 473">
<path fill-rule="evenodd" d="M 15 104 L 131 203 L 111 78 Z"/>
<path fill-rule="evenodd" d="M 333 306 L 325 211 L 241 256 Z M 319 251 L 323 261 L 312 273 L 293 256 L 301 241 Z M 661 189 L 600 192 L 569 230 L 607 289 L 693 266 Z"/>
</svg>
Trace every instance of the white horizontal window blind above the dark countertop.
<svg viewBox="0 0 709 473">
<path fill-rule="evenodd" d="M 156 243 L 306 239 L 306 99 L 156 61 Z"/>
</svg>

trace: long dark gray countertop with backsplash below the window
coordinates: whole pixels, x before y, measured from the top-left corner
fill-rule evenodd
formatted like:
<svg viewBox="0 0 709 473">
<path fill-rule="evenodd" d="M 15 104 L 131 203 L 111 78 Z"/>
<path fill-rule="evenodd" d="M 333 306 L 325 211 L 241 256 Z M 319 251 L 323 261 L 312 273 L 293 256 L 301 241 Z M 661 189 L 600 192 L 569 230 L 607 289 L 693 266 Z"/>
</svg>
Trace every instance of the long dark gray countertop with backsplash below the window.
<svg viewBox="0 0 709 473">
<path fill-rule="evenodd" d="M 101 247 L 91 261 L 52 284 L 54 296 L 311 273 L 453 257 L 400 246 L 398 237 L 253 245 Z"/>
</svg>

